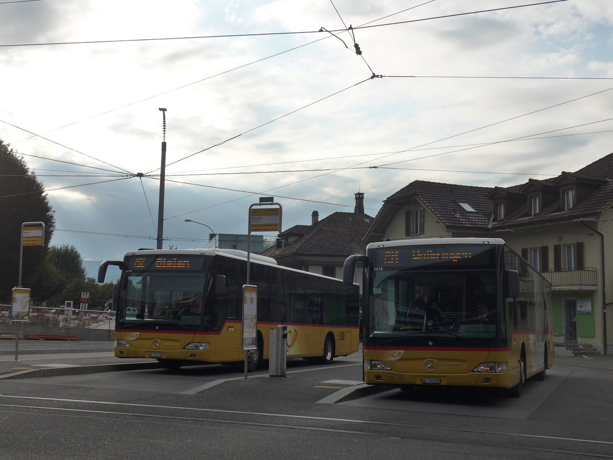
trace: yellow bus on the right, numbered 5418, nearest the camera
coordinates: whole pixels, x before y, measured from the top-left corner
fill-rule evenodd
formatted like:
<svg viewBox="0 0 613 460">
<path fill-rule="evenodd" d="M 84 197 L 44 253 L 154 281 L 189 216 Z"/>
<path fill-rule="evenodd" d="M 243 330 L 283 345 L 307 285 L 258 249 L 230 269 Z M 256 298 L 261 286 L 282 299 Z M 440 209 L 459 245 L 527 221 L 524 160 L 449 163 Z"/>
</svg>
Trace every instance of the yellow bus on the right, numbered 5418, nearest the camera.
<svg viewBox="0 0 613 460">
<path fill-rule="evenodd" d="M 369 384 L 504 388 L 554 362 L 550 283 L 501 239 L 370 243 L 364 267 L 364 378 Z"/>
</svg>

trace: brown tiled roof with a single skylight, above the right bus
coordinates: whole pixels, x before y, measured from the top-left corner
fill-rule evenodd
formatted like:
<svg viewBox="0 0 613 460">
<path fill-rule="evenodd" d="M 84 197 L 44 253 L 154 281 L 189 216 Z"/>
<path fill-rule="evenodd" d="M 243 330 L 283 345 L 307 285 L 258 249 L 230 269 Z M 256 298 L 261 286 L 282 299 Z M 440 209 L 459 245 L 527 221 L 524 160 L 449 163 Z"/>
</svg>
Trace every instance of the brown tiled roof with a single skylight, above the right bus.
<svg viewBox="0 0 613 460">
<path fill-rule="evenodd" d="M 484 228 L 492 216 L 493 205 L 487 196 L 493 190 L 493 187 L 415 180 L 387 197 L 386 202 L 415 196 L 446 226 Z M 463 209 L 459 203 L 470 205 L 475 212 Z"/>
</svg>

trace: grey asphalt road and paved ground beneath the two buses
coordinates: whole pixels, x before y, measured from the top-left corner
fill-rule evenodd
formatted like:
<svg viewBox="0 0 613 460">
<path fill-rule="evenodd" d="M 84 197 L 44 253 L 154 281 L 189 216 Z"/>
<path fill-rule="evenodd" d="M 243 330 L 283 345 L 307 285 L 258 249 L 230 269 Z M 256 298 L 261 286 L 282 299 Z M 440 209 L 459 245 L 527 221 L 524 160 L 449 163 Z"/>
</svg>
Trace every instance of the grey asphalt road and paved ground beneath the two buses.
<svg viewBox="0 0 613 460">
<path fill-rule="evenodd" d="M 365 386 L 359 355 L 290 360 L 286 377 L 243 381 L 228 366 L 104 369 L 128 360 L 48 344 L 80 346 L 0 356 L 0 458 L 613 458 L 611 356 L 558 358 L 508 399 Z M 41 369 L 58 375 L 3 379 Z"/>
</svg>

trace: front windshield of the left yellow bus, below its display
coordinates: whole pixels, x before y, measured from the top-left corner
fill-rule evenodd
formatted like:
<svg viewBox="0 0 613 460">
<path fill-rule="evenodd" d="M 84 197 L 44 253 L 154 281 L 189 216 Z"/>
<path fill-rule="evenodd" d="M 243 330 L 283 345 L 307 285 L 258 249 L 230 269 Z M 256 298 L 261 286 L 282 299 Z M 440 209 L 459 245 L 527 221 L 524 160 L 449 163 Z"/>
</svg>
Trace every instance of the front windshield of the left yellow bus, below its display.
<svg viewBox="0 0 613 460">
<path fill-rule="evenodd" d="M 211 320 L 204 288 L 202 273 L 130 274 L 123 279 L 118 324 L 128 329 L 200 329 Z"/>
</svg>

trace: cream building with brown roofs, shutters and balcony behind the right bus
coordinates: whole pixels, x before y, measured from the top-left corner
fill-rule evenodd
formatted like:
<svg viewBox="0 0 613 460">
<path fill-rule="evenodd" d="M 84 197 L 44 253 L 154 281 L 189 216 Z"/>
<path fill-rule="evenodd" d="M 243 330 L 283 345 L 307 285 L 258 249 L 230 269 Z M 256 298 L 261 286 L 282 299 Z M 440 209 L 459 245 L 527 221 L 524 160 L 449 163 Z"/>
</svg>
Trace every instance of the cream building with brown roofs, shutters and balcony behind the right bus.
<svg viewBox="0 0 613 460">
<path fill-rule="evenodd" d="M 363 241 L 500 237 L 552 283 L 558 345 L 608 354 L 613 342 L 613 314 L 606 312 L 613 296 L 610 178 L 613 154 L 576 172 L 506 188 L 417 180 L 384 201 Z"/>
</svg>

